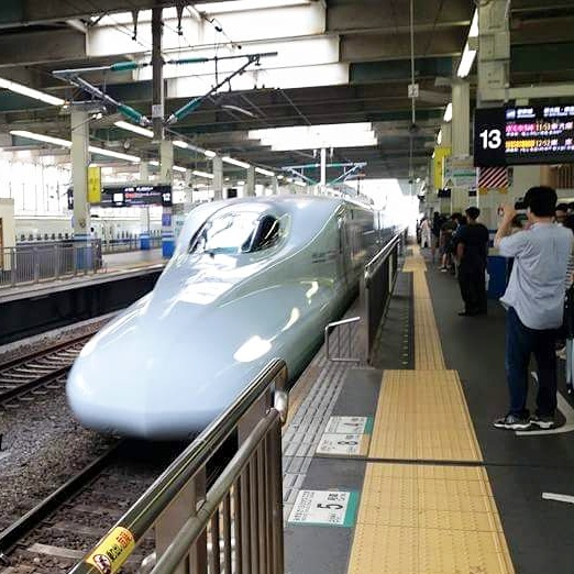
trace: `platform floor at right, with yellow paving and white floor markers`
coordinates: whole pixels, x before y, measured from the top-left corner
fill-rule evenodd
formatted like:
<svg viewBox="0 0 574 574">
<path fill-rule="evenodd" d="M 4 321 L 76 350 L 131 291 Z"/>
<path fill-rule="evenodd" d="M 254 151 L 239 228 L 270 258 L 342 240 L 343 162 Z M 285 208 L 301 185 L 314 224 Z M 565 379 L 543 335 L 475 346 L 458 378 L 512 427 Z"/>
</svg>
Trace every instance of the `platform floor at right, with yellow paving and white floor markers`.
<svg viewBox="0 0 574 574">
<path fill-rule="evenodd" d="M 316 358 L 284 434 L 286 572 L 572 571 L 574 410 L 562 385 L 561 429 L 493 427 L 508 399 L 489 306 L 459 317 L 454 278 L 415 253 L 376 368 Z"/>
</svg>

